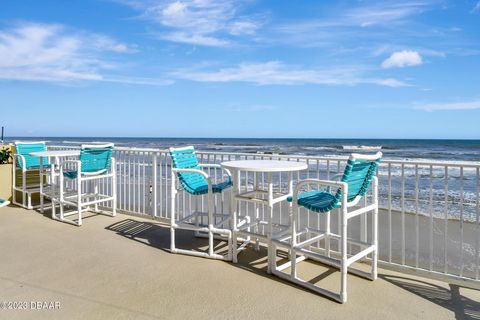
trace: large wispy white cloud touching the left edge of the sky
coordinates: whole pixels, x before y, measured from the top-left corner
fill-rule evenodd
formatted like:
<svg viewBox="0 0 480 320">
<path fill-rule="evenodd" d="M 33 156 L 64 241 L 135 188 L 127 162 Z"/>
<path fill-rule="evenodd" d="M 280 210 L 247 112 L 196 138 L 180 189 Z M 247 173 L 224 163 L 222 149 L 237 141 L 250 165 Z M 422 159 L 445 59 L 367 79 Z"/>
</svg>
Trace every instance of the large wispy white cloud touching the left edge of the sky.
<svg viewBox="0 0 480 320">
<path fill-rule="evenodd" d="M 24 81 L 107 81 L 161 84 L 162 80 L 103 74 L 116 67 L 105 52 L 135 49 L 98 34 L 72 32 L 61 25 L 24 24 L 0 31 L 0 79 Z"/>
</svg>

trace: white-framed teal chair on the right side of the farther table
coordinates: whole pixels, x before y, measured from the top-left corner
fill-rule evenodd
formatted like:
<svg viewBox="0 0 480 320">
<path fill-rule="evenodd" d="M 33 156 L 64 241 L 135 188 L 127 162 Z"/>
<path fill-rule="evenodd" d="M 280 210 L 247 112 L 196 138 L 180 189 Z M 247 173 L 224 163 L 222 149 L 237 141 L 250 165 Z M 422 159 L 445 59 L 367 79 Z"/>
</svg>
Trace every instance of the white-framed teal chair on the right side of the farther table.
<svg viewBox="0 0 480 320">
<path fill-rule="evenodd" d="M 96 213 L 104 214 L 99 210 L 99 204 L 111 202 L 112 212 L 106 213 L 116 215 L 117 210 L 117 185 L 115 158 L 112 157 L 113 143 L 104 145 L 82 145 L 80 149 L 80 160 L 65 160 L 60 164 L 60 217 L 58 220 L 82 225 L 82 212 L 93 210 Z M 110 194 L 102 194 L 99 191 L 101 180 L 110 180 L 105 188 Z M 65 181 L 73 182 L 73 187 L 68 189 Z M 93 185 L 93 188 L 92 188 Z M 91 190 L 93 189 L 93 190 Z M 76 208 L 73 212 L 65 213 L 64 207 Z M 67 216 L 78 215 L 77 221 L 67 219 Z"/>
</svg>

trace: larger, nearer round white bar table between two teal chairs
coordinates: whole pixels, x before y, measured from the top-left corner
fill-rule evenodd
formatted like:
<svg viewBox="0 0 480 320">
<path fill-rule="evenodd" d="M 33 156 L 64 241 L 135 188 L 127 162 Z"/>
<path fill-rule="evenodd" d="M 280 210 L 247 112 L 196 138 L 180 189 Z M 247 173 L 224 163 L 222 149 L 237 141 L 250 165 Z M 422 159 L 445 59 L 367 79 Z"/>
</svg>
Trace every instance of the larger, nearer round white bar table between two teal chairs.
<svg viewBox="0 0 480 320">
<path fill-rule="evenodd" d="M 238 161 L 227 161 L 221 163 L 222 167 L 228 169 L 232 172 L 233 177 L 233 191 L 232 191 L 232 199 L 231 199 L 231 212 L 232 212 L 232 251 L 233 251 L 233 262 L 237 262 L 237 254 L 238 254 L 238 247 L 237 247 L 237 236 L 244 235 L 247 237 L 254 237 L 256 239 L 263 239 L 267 242 L 268 245 L 268 266 L 267 272 L 271 273 L 272 264 L 275 261 L 275 257 L 273 255 L 272 250 L 272 237 L 273 237 L 273 206 L 276 203 L 281 201 L 285 201 L 289 196 L 293 193 L 293 172 L 305 170 L 308 168 L 306 163 L 302 162 L 293 162 L 293 161 L 280 161 L 280 160 L 238 160 Z M 253 191 L 241 192 L 240 189 L 240 171 L 245 172 L 255 172 L 256 179 L 254 182 Z M 273 193 L 273 181 L 272 181 L 272 174 L 273 173 L 282 173 L 288 172 L 288 193 Z M 260 190 L 258 187 L 258 177 L 259 174 L 266 173 L 267 174 L 267 184 L 268 188 L 267 191 Z M 258 195 L 267 195 L 267 199 L 260 198 Z M 255 224 L 258 225 L 259 221 L 250 222 L 248 219 L 246 221 L 241 221 L 240 223 L 237 222 L 239 210 L 237 209 L 237 201 L 246 201 L 252 202 L 256 204 L 265 205 L 267 210 L 267 217 L 264 223 L 267 224 L 266 235 L 260 233 L 253 233 L 250 231 L 252 226 Z M 256 212 L 256 218 L 258 220 L 258 210 Z M 263 221 L 262 221 L 263 222 Z M 239 229 L 241 228 L 241 229 Z"/>
</svg>

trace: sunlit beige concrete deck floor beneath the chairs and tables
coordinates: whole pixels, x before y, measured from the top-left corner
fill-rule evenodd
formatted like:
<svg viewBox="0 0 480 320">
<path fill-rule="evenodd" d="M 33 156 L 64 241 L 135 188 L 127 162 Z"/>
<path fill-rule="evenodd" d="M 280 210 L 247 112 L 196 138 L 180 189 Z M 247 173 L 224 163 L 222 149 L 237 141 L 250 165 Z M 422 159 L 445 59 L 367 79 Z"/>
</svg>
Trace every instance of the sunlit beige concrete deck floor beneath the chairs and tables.
<svg viewBox="0 0 480 320">
<path fill-rule="evenodd" d="M 179 244 L 203 245 L 189 233 Z M 480 292 L 380 269 L 371 282 L 349 275 L 344 305 L 265 272 L 265 252 L 240 263 L 168 253 L 155 221 L 94 215 L 82 227 L 35 211 L 0 209 L 0 319 L 480 319 Z M 338 272 L 303 263 L 325 286 Z M 31 310 L 31 302 L 60 309 Z M 38 304 L 36 304 L 38 306 Z M 0 304 L 1 306 L 1 304 Z"/>
</svg>

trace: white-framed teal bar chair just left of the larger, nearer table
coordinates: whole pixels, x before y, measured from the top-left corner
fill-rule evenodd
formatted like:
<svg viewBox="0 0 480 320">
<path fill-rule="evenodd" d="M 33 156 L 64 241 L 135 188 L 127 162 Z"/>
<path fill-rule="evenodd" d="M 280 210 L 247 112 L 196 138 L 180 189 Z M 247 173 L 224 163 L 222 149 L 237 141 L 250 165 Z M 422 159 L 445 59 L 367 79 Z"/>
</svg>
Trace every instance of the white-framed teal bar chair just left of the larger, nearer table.
<svg viewBox="0 0 480 320">
<path fill-rule="evenodd" d="M 214 208 L 215 194 L 222 193 L 225 189 L 232 186 L 231 174 L 228 170 L 223 169 L 218 164 L 199 164 L 195 150 L 192 146 L 184 148 L 170 148 L 170 156 L 172 158 L 172 183 L 170 194 L 170 251 L 172 253 L 182 253 L 192 256 L 231 260 L 231 230 L 225 225 L 230 223 L 230 215 L 216 214 Z M 221 169 L 226 174 L 227 179 L 220 183 L 214 183 L 212 178 L 202 169 L 216 168 Z M 191 195 L 207 195 L 208 212 L 193 212 L 185 217 L 178 217 L 175 212 L 175 201 L 177 194 L 177 181 L 180 186 Z M 207 216 L 207 224 L 199 223 L 202 216 Z M 216 218 L 220 221 L 216 222 Z M 198 235 L 204 233 L 208 235 L 208 253 L 193 250 L 179 249 L 175 246 L 175 230 L 183 229 L 195 231 Z M 226 238 L 228 243 L 228 253 L 226 256 L 214 252 L 213 239 L 215 235 Z"/>
</svg>

